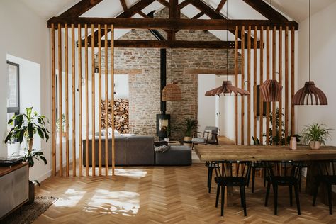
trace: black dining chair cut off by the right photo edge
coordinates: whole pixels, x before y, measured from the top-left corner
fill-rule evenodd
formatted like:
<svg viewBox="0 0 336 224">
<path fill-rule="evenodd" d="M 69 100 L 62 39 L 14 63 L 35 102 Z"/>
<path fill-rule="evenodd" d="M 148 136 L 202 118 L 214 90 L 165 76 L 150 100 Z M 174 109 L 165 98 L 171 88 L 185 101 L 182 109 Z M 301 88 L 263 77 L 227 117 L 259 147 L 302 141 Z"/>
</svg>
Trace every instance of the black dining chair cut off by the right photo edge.
<svg viewBox="0 0 336 224">
<path fill-rule="evenodd" d="M 318 187 L 321 183 L 327 185 L 329 214 L 332 215 L 332 185 L 336 185 L 336 160 L 321 161 L 318 163 L 318 176 L 316 177 L 316 189 L 313 196 L 313 206 L 316 205 Z"/>
</svg>

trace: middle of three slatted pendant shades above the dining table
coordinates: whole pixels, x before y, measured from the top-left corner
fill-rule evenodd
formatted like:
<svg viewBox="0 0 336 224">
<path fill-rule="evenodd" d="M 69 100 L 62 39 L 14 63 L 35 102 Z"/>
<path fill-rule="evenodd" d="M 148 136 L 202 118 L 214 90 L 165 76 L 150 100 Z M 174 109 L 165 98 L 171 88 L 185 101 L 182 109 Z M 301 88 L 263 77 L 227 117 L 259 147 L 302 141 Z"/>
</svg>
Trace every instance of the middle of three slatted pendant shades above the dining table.
<svg viewBox="0 0 336 224">
<path fill-rule="evenodd" d="M 281 99 L 282 86 L 275 79 L 267 79 L 260 85 L 264 102 L 275 102 Z"/>
</svg>

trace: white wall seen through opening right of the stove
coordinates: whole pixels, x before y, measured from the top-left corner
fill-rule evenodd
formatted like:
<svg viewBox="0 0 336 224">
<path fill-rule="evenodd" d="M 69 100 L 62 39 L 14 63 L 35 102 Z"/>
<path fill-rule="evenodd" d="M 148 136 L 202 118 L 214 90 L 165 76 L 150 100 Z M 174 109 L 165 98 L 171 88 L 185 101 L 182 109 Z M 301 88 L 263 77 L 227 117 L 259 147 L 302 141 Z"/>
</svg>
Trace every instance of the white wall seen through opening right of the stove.
<svg viewBox="0 0 336 224">
<path fill-rule="evenodd" d="M 206 126 L 215 126 L 215 97 L 204 96 L 215 88 L 215 74 L 198 74 L 198 131 Z"/>
</svg>

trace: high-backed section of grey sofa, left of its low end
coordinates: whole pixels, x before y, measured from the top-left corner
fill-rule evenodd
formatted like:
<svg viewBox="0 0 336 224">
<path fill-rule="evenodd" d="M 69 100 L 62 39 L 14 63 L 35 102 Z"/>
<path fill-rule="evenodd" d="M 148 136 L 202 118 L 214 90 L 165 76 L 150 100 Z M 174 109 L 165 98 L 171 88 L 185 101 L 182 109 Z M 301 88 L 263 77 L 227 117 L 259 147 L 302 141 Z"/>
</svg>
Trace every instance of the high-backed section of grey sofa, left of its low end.
<svg viewBox="0 0 336 224">
<path fill-rule="evenodd" d="M 101 138 L 102 165 L 105 166 L 105 138 Z M 108 139 L 108 147 L 111 147 Z M 115 140 L 116 165 L 154 165 L 154 137 L 152 136 L 116 136 Z M 89 166 L 92 166 L 92 140 L 89 143 Z M 96 166 L 99 165 L 99 138 L 94 140 Z M 108 152 L 108 164 L 111 166 L 111 151 Z M 83 165 L 86 166 L 86 140 L 83 140 Z"/>
</svg>

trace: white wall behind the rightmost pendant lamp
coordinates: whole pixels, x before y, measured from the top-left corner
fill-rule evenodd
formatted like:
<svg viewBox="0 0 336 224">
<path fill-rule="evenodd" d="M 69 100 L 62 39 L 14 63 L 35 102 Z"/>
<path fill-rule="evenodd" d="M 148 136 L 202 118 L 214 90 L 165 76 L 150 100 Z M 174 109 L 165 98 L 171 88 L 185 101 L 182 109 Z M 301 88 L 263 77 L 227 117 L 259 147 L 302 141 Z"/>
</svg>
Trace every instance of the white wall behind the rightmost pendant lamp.
<svg viewBox="0 0 336 224">
<path fill-rule="evenodd" d="M 336 3 L 311 17 L 311 79 L 322 89 L 328 99 L 327 106 L 296 106 L 298 133 L 304 125 L 325 123 L 336 129 Z M 308 81 L 308 19 L 299 25 L 298 35 L 298 88 Z M 327 145 L 336 145 L 336 130 Z"/>
</svg>

